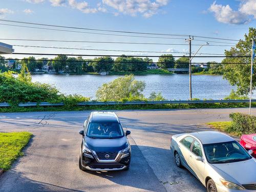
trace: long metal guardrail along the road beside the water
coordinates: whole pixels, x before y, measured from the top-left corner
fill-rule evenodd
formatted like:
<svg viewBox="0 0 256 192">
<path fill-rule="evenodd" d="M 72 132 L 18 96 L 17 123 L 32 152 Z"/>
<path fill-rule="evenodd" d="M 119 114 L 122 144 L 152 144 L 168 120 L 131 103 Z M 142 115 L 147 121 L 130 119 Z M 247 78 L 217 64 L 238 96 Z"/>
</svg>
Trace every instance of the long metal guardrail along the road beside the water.
<svg viewBox="0 0 256 192">
<path fill-rule="evenodd" d="M 246 100 L 168 100 L 168 101 L 126 101 L 126 102 L 117 102 L 117 101 L 108 101 L 108 102 L 100 102 L 100 101 L 87 101 L 87 102 L 79 102 L 78 106 L 87 106 L 87 105 L 135 105 L 135 104 L 203 104 L 203 103 L 248 103 L 249 99 Z M 256 99 L 252 99 L 251 102 L 256 102 Z M 63 102 L 61 103 L 49 103 L 49 102 L 26 102 L 19 103 L 18 106 L 63 106 L 65 105 Z M 8 107 L 11 106 L 7 102 L 0 103 L 0 107 Z"/>
</svg>

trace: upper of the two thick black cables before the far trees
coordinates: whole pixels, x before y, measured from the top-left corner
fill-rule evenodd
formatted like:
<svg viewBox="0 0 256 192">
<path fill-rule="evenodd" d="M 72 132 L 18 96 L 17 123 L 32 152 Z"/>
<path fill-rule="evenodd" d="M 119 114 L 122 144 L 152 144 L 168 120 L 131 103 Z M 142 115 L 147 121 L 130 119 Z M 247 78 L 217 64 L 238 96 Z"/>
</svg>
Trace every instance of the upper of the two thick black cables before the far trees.
<svg viewBox="0 0 256 192">
<path fill-rule="evenodd" d="M 67 56 L 96 56 L 96 57 L 104 57 L 104 56 L 108 56 L 108 57 L 189 57 L 189 56 L 183 56 L 183 55 L 179 55 L 179 56 L 170 56 L 170 55 L 96 55 L 96 54 L 56 54 L 56 53 L 13 53 L 16 55 L 67 55 Z M 237 56 L 194 56 L 194 57 L 227 57 L 227 58 L 234 58 L 234 57 L 250 57 L 250 56 L 245 56 L 245 55 L 237 55 Z"/>
</svg>

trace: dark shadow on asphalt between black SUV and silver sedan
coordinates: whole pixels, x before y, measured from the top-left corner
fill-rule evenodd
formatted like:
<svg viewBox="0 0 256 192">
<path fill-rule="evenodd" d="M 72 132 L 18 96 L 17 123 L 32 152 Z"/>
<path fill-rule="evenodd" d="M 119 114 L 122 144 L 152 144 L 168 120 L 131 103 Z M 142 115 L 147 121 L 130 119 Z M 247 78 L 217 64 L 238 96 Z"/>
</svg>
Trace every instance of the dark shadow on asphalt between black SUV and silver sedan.
<svg viewBox="0 0 256 192">
<path fill-rule="evenodd" d="M 150 191 L 177 191 L 177 189 L 185 191 L 188 185 L 192 189 L 190 191 L 205 191 L 204 186 L 187 169 L 176 166 L 170 150 L 151 146 L 131 145 L 131 147 L 132 161 L 129 170 L 118 172 L 86 170 L 84 174 L 108 179 L 118 185 Z M 142 151 L 149 156 L 145 158 Z M 153 164 L 156 166 L 154 169 L 151 167 Z"/>
</svg>

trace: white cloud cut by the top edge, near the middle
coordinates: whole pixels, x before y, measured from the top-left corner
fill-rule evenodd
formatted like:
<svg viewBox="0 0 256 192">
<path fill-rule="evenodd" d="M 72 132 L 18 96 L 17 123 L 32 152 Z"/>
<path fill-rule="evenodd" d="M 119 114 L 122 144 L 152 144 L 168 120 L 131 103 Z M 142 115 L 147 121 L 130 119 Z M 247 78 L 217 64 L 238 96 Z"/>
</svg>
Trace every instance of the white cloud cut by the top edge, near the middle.
<svg viewBox="0 0 256 192">
<path fill-rule="evenodd" d="M 120 13 L 132 16 L 142 14 L 144 17 L 151 17 L 167 5 L 168 0 L 102 0 L 102 3 L 118 10 Z"/>
</svg>

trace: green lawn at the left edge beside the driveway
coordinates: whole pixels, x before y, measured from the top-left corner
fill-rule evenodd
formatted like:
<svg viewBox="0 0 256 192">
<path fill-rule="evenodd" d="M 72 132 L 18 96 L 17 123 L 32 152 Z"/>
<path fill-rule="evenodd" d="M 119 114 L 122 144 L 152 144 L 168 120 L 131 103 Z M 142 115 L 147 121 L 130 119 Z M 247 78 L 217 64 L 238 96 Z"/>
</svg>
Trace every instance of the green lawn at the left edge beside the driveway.
<svg viewBox="0 0 256 192">
<path fill-rule="evenodd" d="M 23 155 L 31 136 L 29 132 L 0 133 L 0 168 L 11 168 L 13 161 Z"/>
</svg>

